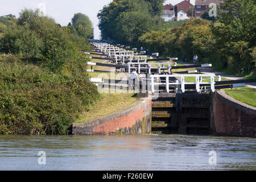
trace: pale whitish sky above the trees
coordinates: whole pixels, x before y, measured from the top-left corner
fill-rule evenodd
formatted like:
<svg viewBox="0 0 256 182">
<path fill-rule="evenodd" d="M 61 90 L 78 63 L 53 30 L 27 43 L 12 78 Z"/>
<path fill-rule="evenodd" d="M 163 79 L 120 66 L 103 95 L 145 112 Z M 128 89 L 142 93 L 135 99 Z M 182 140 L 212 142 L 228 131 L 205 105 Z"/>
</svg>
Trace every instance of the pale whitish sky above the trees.
<svg viewBox="0 0 256 182">
<path fill-rule="evenodd" d="M 176 5 L 183 0 L 167 0 L 166 3 L 172 3 Z M 9 0 L 1 1 L 0 4 L 0 16 L 7 14 L 14 14 L 19 16 L 20 10 L 40 8 L 46 15 L 51 16 L 61 26 L 67 26 L 75 13 L 82 13 L 89 16 L 92 20 L 94 28 L 94 38 L 100 38 L 100 30 L 98 30 L 98 11 L 103 6 L 108 5 L 112 0 Z M 165 4 L 166 4 L 165 3 Z M 195 0 L 191 0 L 194 4 Z"/>
</svg>

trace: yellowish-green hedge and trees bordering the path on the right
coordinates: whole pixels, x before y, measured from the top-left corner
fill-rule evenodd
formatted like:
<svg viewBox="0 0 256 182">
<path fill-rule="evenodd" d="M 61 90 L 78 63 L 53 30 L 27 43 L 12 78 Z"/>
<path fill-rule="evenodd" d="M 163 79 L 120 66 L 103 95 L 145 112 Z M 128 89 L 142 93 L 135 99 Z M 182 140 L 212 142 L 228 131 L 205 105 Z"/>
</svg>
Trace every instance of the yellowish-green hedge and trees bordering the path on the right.
<svg viewBox="0 0 256 182">
<path fill-rule="evenodd" d="M 218 11 L 217 16 L 220 26 L 206 19 L 185 20 L 182 26 L 146 32 L 138 39 L 139 43 L 161 55 L 180 59 L 186 55 L 188 61 L 197 55 L 199 63 L 210 62 L 235 75 L 254 75 L 256 19 L 251 18 L 256 16 L 254 2 L 225 0 L 222 7 L 225 11 L 221 15 Z"/>
</svg>

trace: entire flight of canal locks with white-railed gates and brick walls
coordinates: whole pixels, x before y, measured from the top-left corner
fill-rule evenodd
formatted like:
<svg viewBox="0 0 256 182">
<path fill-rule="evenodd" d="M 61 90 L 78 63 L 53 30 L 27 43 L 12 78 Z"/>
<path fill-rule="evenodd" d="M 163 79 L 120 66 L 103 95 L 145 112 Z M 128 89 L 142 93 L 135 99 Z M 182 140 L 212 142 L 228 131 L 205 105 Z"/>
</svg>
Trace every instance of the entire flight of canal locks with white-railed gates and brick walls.
<svg viewBox="0 0 256 182">
<path fill-rule="evenodd" d="M 90 65 L 88 72 L 101 72 L 98 77 L 90 78 L 98 86 L 98 91 L 127 90 L 133 93 L 135 90 L 141 100 L 125 111 L 86 123 L 73 123 L 74 135 L 255 137 L 254 107 L 234 100 L 221 90 L 243 87 L 255 79 L 221 81 L 221 76 L 200 73 L 201 68 L 212 67 L 212 64 L 179 66 L 176 57 L 160 58 L 158 53 L 149 57 L 146 51 L 109 41 L 91 40 L 90 43 L 94 51 L 85 54 L 91 59 L 105 60 L 104 63 L 87 63 Z M 102 73 L 93 67 L 109 69 Z M 180 71 L 184 68 L 197 69 Z M 131 79 L 134 72 L 138 79 Z"/>
</svg>

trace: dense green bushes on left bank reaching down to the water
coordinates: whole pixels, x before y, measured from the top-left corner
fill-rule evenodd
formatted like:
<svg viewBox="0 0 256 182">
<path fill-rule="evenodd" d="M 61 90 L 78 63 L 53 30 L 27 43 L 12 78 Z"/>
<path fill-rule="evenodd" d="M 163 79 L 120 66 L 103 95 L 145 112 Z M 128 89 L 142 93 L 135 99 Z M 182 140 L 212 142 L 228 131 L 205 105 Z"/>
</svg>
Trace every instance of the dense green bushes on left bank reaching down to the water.
<svg viewBox="0 0 256 182">
<path fill-rule="evenodd" d="M 67 134 L 72 122 L 97 98 L 85 77 L 81 59 L 67 65 L 68 74 L 0 56 L 0 134 Z"/>
</svg>

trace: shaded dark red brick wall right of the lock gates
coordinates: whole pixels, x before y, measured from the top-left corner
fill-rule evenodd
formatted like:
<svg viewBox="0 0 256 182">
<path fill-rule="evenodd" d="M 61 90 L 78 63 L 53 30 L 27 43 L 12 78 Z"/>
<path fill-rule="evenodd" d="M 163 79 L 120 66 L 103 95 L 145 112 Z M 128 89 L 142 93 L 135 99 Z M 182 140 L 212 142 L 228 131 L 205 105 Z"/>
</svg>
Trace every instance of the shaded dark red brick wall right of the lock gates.
<svg viewBox="0 0 256 182">
<path fill-rule="evenodd" d="M 256 137 L 256 115 L 217 94 L 216 133 L 237 137 Z"/>
</svg>

